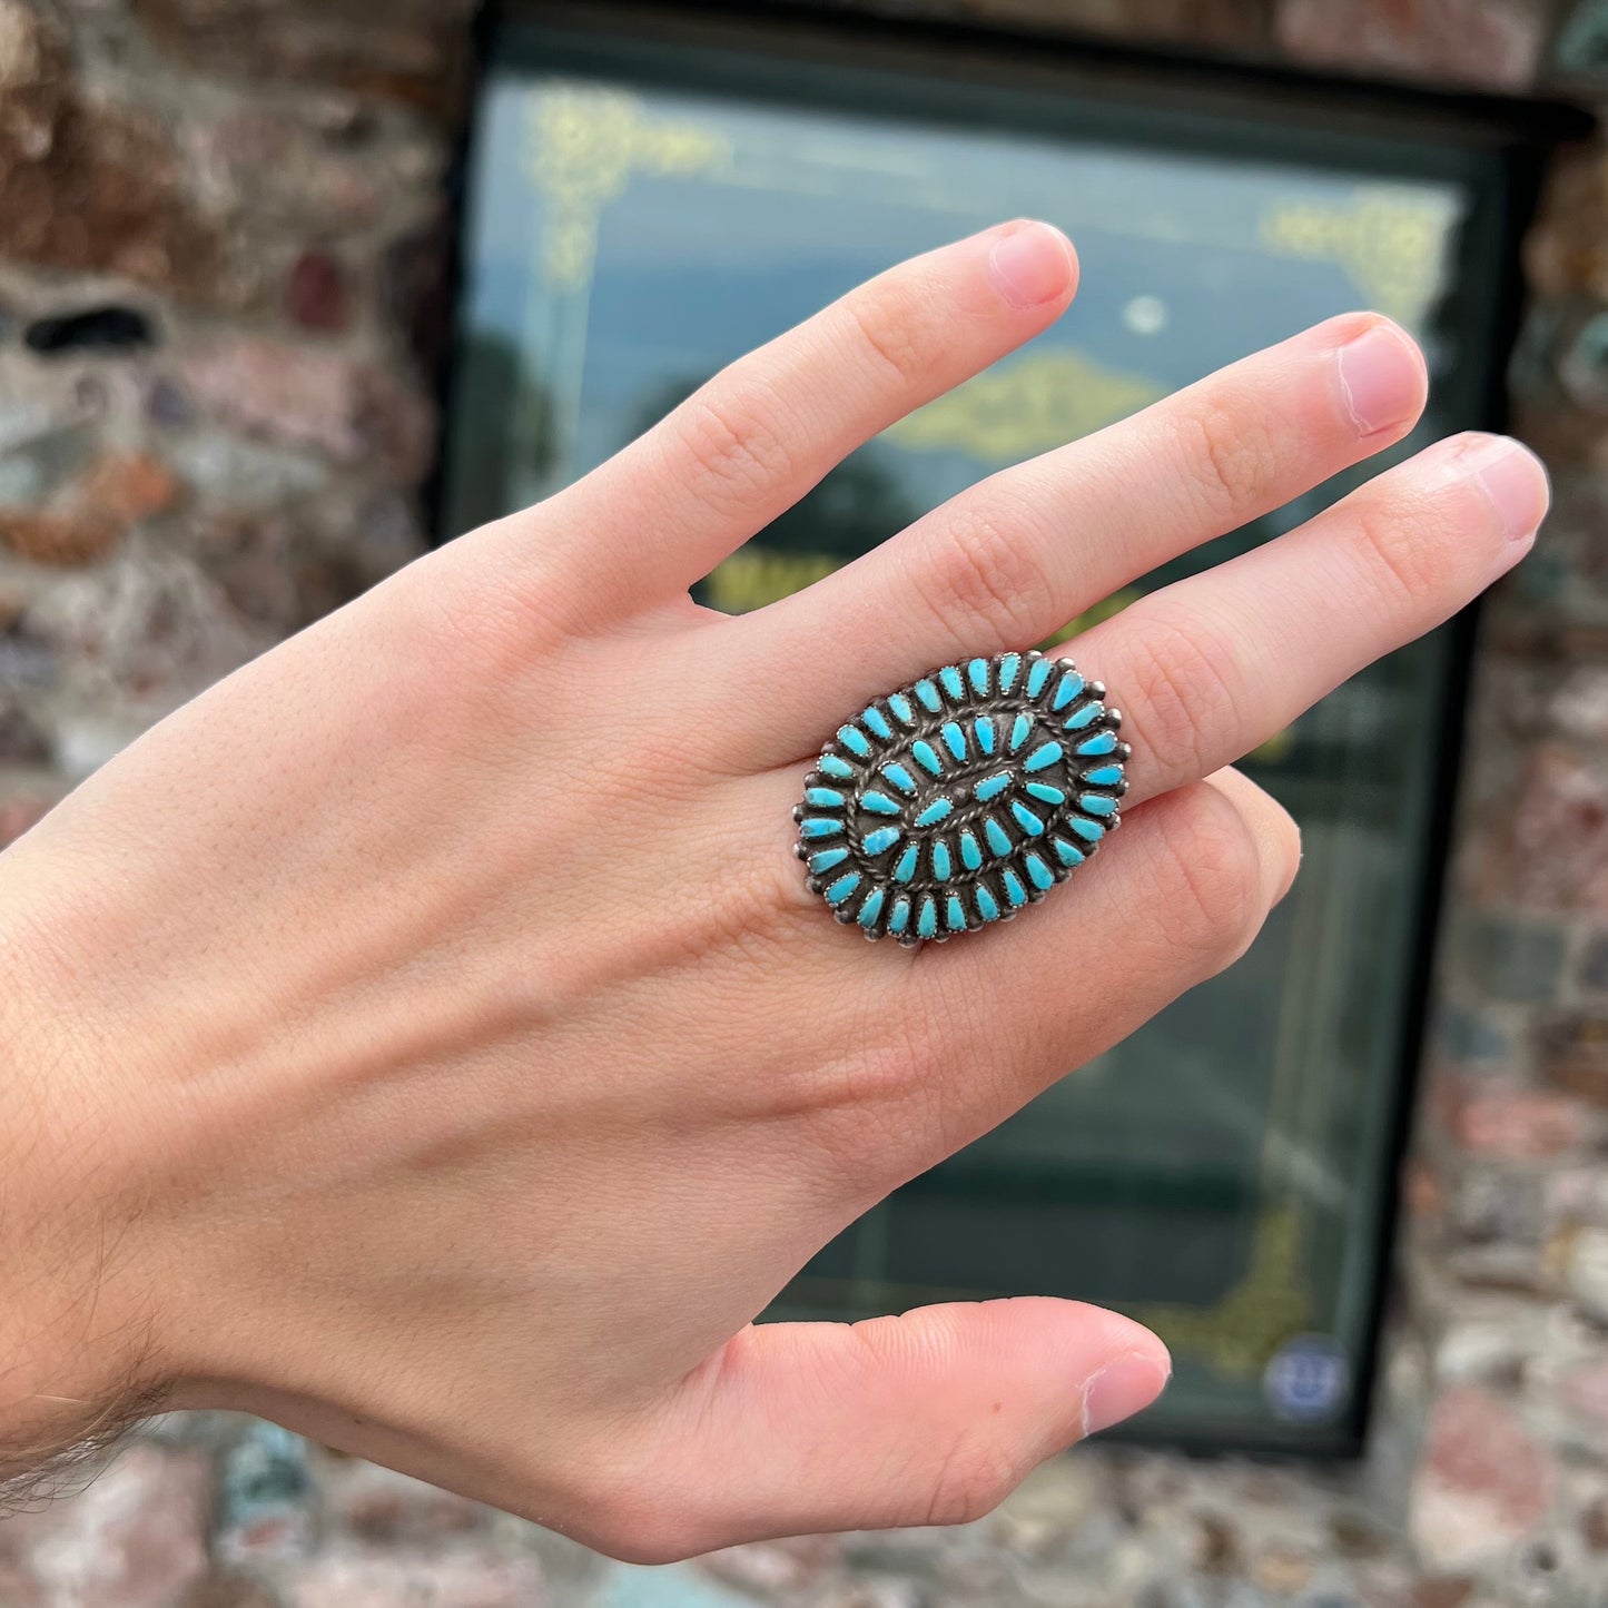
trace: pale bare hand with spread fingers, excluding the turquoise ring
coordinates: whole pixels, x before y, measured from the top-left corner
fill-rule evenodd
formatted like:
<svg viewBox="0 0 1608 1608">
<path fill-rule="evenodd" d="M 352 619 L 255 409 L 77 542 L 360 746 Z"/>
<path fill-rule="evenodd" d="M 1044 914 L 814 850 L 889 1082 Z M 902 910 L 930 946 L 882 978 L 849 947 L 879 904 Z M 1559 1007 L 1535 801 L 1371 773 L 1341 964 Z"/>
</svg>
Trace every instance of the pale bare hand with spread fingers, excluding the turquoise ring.
<svg viewBox="0 0 1608 1608">
<path fill-rule="evenodd" d="M 0 857 L 10 1473 L 130 1404 L 235 1407 L 651 1561 L 965 1520 L 1155 1399 L 1163 1343 L 1071 1301 L 751 1320 L 1243 952 L 1299 847 L 1225 767 L 1516 563 L 1547 484 L 1513 442 L 1439 442 L 1089 630 L 1134 743 L 1122 831 L 1008 926 L 867 944 L 790 852 L 847 714 L 1042 640 L 1425 402 L 1412 341 L 1348 315 L 798 597 L 690 600 L 1074 281 L 1026 222 L 892 269 Z"/>
</svg>

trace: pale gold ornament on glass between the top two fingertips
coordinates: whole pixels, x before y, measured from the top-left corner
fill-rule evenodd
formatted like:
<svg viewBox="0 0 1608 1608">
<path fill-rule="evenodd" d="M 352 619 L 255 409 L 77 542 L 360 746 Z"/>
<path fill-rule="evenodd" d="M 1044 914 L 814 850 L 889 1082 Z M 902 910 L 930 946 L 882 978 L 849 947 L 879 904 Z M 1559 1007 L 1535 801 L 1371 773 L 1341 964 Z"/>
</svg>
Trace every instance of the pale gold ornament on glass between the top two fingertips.
<svg viewBox="0 0 1608 1608">
<path fill-rule="evenodd" d="M 917 452 L 1015 463 L 1087 436 L 1166 396 L 1169 386 L 1060 347 L 991 368 L 886 431 Z"/>
</svg>

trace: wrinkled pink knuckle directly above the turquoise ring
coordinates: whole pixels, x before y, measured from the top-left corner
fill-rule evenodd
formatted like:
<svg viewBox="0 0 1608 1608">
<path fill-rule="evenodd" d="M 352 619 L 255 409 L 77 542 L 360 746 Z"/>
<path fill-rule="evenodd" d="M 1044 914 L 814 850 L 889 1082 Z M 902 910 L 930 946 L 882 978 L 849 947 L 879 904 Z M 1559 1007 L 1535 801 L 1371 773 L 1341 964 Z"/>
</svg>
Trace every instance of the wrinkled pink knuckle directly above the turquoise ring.
<svg viewBox="0 0 1608 1608">
<path fill-rule="evenodd" d="M 936 587 L 926 601 L 957 648 L 1034 642 L 1055 624 L 1055 589 L 1036 545 L 1024 519 L 976 503 L 950 510 L 917 584 Z"/>
</svg>

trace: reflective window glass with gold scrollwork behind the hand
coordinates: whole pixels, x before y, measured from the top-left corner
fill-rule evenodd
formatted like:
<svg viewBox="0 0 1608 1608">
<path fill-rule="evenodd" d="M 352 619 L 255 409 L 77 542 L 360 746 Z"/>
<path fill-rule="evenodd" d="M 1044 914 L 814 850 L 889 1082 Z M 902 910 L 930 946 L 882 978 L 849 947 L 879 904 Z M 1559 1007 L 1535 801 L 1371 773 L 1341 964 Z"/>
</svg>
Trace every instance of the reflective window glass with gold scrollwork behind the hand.
<svg viewBox="0 0 1608 1608">
<path fill-rule="evenodd" d="M 674 51 L 648 74 L 566 68 L 518 40 L 494 59 L 450 531 L 563 486 L 888 264 L 1013 214 L 1076 238 L 1074 310 L 855 453 L 709 576 L 704 601 L 761 608 L 978 478 L 1356 306 L 1412 328 L 1454 399 L 1393 457 L 1470 421 L 1447 294 L 1462 286 L 1466 304 L 1476 187 L 1444 153 L 1309 138 L 1296 159 L 1283 132 L 1201 119 L 1158 140 L 1143 108 L 1127 133 L 1110 108 L 1081 129 L 1064 105 L 1048 129 L 1031 98 L 981 88 L 957 127 L 954 84 L 854 95 L 847 69 L 810 69 L 825 87 L 810 100 L 809 74 L 757 58 L 741 95 Z M 865 109 L 836 109 L 849 100 Z M 1357 479 L 1095 613 L 1280 534 Z M 873 1211 L 777 1315 L 1023 1291 L 1101 1301 L 1174 1349 L 1151 1431 L 1341 1439 L 1370 1344 L 1447 669 L 1444 637 L 1418 643 L 1253 756 L 1301 822 L 1306 863 L 1251 954 Z M 1047 986 L 1077 987 L 1076 973 Z"/>
</svg>

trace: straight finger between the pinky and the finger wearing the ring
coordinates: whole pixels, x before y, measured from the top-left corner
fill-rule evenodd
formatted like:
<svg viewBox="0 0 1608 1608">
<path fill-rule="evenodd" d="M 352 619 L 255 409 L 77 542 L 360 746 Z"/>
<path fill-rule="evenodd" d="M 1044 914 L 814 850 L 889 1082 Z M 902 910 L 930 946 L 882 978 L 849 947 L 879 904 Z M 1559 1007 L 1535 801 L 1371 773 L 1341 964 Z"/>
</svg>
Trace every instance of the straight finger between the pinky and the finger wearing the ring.
<svg viewBox="0 0 1608 1608">
<path fill-rule="evenodd" d="M 786 703 L 772 711 L 777 751 L 764 757 L 798 757 L 783 751 L 798 730 L 830 730 L 933 664 L 1039 642 L 1134 577 L 1399 441 L 1425 384 L 1402 330 L 1352 314 L 981 481 L 733 622 L 732 646 Z"/>
</svg>

